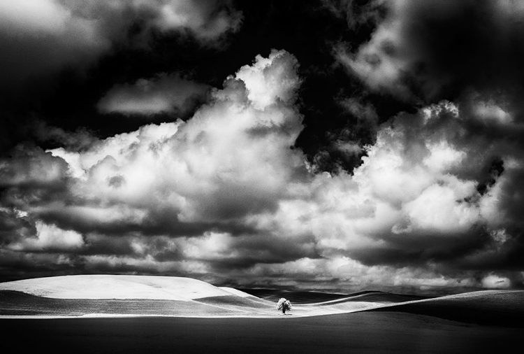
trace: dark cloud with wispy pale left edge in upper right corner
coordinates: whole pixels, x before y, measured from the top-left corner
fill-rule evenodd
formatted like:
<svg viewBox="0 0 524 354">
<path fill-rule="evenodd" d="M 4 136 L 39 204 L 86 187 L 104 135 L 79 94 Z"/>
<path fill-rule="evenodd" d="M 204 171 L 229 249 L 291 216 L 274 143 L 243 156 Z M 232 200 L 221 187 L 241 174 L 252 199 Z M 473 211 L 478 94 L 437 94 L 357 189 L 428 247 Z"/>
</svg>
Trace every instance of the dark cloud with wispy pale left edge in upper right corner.
<svg viewBox="0 0 524 354">
<path fill-rule="evenodd" d="M 372 90 L 427 101 L 520 82 L 524 7 L 518 1 L 384 3 L 387 15 L 370 40 L 337 52 Z"/>
</svg>

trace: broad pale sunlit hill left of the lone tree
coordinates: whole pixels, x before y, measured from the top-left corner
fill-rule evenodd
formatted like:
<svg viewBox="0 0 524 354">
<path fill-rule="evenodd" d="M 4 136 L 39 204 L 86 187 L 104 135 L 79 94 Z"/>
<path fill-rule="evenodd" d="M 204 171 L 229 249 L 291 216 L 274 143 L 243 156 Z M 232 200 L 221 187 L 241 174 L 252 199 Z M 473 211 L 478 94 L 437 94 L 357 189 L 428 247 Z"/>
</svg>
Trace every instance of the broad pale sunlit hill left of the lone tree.
<svg viewBox="0 0 524 354">
<path fill-rule="evenodd" d="M 270 316 L 274 304 L 170 276 L 78 275 L 0 283 L 0 316 Z"/>
</svg>

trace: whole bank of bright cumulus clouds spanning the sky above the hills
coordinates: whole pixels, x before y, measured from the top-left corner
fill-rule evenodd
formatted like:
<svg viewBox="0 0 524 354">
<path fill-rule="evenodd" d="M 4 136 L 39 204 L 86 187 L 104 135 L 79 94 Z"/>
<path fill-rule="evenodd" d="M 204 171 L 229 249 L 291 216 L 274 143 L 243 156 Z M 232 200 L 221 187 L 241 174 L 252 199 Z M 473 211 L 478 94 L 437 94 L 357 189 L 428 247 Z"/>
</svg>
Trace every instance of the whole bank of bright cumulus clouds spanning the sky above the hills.
<svg viewBox="0 0 524 354">
<path fill-rule="evenodd" d="M 377 125 L 352 174 L 318 174 L 291 148 L 303 129 L 297 65 L 274 50 L 185 122 L 1 160 L 12 232 L 0 233 L 0 264 L 62 250 L 82 271 L 324 289 L 518 278 L 524 161 L 511 107 L 472 94 L 401 113 Z"/>
</svg>

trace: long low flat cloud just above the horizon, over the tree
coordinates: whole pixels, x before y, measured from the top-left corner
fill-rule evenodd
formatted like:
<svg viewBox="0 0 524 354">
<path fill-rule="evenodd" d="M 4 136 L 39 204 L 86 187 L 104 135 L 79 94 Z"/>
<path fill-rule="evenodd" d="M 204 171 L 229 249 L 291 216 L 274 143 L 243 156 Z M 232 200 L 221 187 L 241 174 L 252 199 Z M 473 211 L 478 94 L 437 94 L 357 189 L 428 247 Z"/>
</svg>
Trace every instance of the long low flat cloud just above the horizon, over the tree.
<svg viewBox="0 0 524 354">
<path fill-rule="evenodd" d="M 269 288 L 356 292 L 381 289 L 392 292 L 423 292 L 432 295 L 472 290 L 479 281 L 467 272 L 443 276 L 419 267 L 365 266 L 349 257 L 302 258 L 279 264 L 257 264 L 241 285 Z"/>
</svg>

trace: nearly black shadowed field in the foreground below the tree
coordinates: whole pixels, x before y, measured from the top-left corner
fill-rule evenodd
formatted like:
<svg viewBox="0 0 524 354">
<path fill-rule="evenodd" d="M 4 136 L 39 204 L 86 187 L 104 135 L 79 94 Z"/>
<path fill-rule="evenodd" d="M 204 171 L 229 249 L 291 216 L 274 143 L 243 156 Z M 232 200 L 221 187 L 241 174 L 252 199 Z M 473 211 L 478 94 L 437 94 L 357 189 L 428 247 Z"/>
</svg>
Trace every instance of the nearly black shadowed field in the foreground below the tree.
<svg viewBox="0 0 524 354">
<path fill-rule="evenodd" d="M 10 353 L 516 353 L 522 328 L 400 312 L 0 320 Z M 8 351 L 3 351 L 8 353 Z"/>
</svg>

